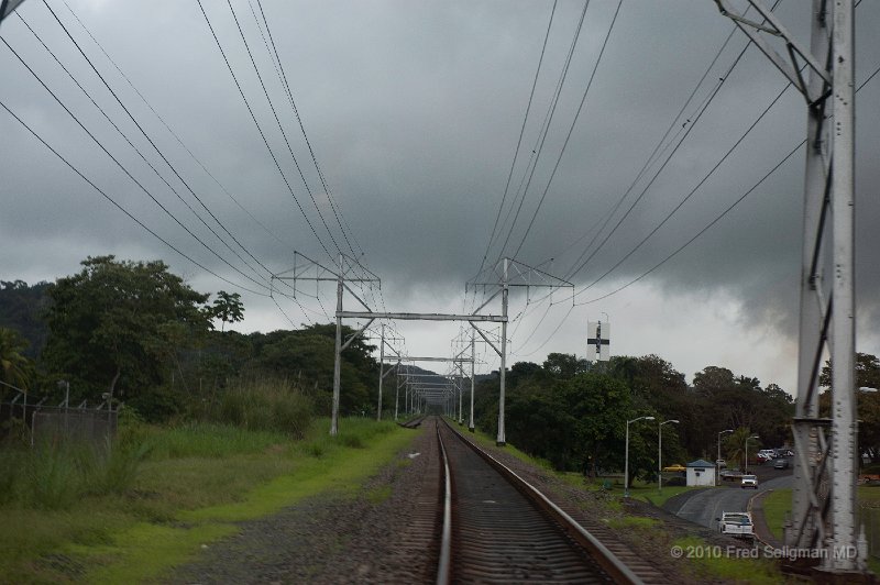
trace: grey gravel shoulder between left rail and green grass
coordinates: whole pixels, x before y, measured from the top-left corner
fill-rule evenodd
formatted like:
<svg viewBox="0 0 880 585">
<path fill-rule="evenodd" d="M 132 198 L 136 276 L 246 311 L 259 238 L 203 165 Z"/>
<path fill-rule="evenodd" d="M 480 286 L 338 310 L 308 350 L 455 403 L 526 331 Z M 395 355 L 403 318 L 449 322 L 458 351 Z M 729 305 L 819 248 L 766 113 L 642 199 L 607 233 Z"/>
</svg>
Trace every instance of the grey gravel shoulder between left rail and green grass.
<svg viewBox="0 0 880 585">
<path fill-rule="evenodd" d="M 426 429 L 356 494 L 327 492 L 240 522 L 163 583 L 426 583 L 436 560 L 411 545 L 433 534 L 419 522 L 419 492 L 437 456 Z M 416 456 L 410 456 L 419 453 Z M 433 523 L 433 522 L 429 522 Z M 413 531 L 420 532 L 414 534 Z"/>
</svg>

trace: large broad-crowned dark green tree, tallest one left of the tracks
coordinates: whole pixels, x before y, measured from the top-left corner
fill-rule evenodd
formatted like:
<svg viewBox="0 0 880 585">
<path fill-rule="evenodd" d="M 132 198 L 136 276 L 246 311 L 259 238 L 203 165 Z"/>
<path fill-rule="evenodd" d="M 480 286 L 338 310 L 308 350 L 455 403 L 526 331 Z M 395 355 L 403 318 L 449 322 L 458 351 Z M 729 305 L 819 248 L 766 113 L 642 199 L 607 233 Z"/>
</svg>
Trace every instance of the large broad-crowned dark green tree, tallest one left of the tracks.
<svg viewBox="0 0 880 585">
<path fill-rule="evenodd" d="M 170 371 L 169 353 L 186 340 L 182 331 L 208 331 L 202 308 L 208 295 L 189 288 L 161 261 L 98 256 L 82 266 L 48 289 L 45 361 L 75 382 L 80 397 L 107 391 L 148 410 L 151 391 Z"/>
</svg>

